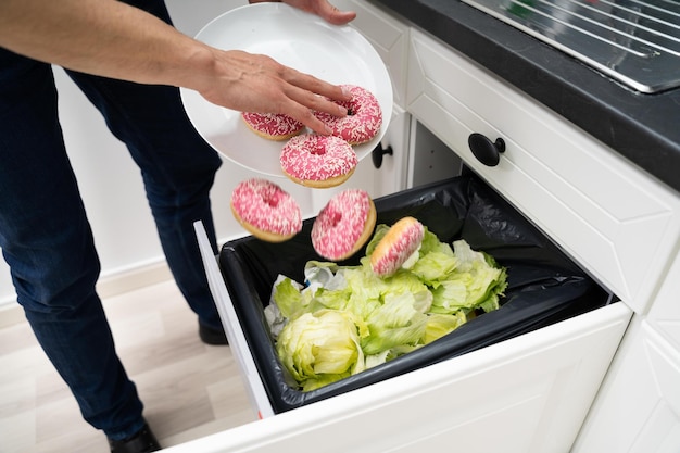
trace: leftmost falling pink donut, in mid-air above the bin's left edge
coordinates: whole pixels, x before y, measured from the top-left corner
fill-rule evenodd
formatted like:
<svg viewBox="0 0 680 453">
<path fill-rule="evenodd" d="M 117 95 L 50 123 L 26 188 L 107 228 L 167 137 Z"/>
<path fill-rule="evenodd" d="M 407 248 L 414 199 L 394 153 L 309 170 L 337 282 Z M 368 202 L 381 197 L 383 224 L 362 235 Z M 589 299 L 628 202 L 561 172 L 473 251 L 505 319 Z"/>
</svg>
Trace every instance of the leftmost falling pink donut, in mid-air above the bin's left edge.
<svg viewBox="0 0 680 453">
<path fill-rule="evenodd" d="M 231 212 L 253 236 L 268 242 L 281 242 L 302 229 L 302 215 L 295 200 L 266 179 L 251 178 L 234 189 Z"/>
</svg>

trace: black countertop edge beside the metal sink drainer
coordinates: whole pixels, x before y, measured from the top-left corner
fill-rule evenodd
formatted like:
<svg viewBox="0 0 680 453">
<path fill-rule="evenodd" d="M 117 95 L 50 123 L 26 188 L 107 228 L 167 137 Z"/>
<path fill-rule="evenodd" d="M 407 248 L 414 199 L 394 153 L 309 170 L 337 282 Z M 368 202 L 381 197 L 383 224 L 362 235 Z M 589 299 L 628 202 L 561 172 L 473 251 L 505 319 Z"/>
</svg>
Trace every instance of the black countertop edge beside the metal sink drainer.
<svg viewBox="0 0 680 453">
<path fill-rule="evenodd" d="M 468 55 L 680 192 L 680 89 L 639 93 L 458 0 L 369 1 Z"/>
</svg>

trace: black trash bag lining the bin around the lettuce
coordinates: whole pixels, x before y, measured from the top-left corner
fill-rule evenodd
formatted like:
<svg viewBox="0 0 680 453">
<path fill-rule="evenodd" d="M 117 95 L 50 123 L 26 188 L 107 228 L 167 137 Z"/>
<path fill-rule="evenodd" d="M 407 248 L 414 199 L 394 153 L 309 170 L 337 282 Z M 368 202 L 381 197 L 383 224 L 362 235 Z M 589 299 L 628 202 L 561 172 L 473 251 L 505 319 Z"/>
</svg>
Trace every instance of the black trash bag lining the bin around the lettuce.
<svg viewBox="0 0 680 453">
<path fill-rule="evenodd" d="M 282 243 L 253 237 L 226 243 L 219 253 L 227 290 L 275 413 L 375 383 L 445 358 L 604 306 L 610 294 L 594 282 L 539 229 L 474 175 L 458 176 L 375 200 L 377 224 L 413 216 L 442 242 L 465 239 L 507 267 L 507 289 L 496 311 L 477 316 L 451 334 L 393 361 L 316 390 L 298 390 L 279 362 L 263 309 L 277 276 L 304 281 L 316 254 L 314 219 Z M 339 265 L 357 265 L 365 248 Z"/>
</svg>

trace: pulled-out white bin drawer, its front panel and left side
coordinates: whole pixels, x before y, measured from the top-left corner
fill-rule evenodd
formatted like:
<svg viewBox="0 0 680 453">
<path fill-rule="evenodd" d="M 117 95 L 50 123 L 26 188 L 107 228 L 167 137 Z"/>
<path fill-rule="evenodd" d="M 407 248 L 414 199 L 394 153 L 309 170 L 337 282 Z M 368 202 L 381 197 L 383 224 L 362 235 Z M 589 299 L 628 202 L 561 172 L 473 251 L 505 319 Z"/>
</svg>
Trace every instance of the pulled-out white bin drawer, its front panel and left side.
<svg viewBox="0 0 680 453">
<path fill-rule="evenodd" d="M 248 370 L 254 361 L 201 229 L 211 290 L 263 419 L 171 449 L 176 453 L 406 452 L 442 444 L 461 451 L 568 451 L 631 316 L 615 303 L 274 415 L 262 380 Z M 490 429 L 498 436 L 488 436 Z"/>
</svg>

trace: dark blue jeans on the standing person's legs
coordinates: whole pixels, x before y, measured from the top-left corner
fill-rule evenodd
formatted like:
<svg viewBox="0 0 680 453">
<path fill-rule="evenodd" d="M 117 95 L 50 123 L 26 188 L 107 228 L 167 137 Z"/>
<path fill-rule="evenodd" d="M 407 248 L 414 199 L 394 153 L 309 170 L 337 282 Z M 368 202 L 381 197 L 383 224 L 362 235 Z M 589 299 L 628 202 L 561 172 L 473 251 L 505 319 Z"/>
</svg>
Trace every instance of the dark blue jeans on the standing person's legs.
<svg viewBox="0 0 680 453">
<path fill-rule="evenodd" d="M 144 9 L 169 23 L 162 1 L 144 1 Z M 219 156 L 190 125 L 178 89 L 68 75 L 139 165 L 167 263 L 199 323 L 222 328 L 192 228 L 202 221 L 216 251 L 209 191 Z M 142 403 L 95 291 L 100 263 L 51 66 L 1 48 L 0 248 L 17 301 L 84 418 L 112 439 L 139 430 Z"/>
</svg>

